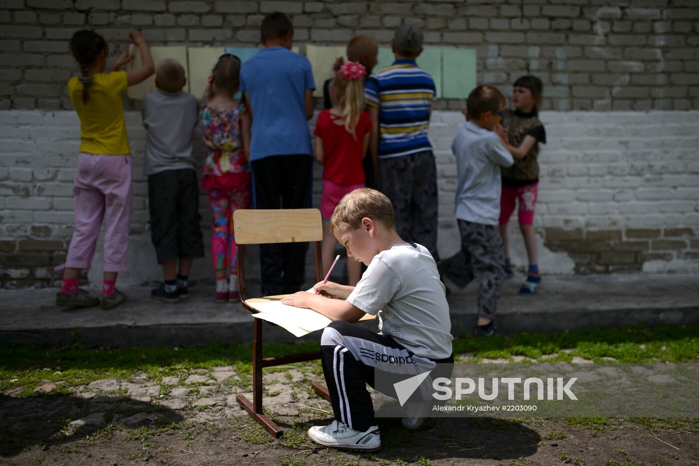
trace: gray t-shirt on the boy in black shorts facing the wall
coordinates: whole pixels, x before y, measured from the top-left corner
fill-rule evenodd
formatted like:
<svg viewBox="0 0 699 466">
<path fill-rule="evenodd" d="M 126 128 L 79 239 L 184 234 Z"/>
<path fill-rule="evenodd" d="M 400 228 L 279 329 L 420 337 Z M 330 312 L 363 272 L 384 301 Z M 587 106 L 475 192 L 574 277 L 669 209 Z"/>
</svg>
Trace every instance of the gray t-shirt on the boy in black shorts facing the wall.
<svg viewBox="0 0 699 466">
<path fill-rule="evenodd" d="M 145 161 L 143 173 L 194 167 L 193 132 L 199 123 L 199 104 L 187 92 L 157 90 L 143 97 Z"/>
</svg>

